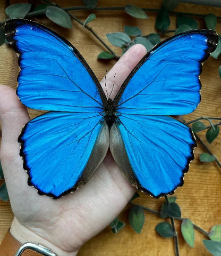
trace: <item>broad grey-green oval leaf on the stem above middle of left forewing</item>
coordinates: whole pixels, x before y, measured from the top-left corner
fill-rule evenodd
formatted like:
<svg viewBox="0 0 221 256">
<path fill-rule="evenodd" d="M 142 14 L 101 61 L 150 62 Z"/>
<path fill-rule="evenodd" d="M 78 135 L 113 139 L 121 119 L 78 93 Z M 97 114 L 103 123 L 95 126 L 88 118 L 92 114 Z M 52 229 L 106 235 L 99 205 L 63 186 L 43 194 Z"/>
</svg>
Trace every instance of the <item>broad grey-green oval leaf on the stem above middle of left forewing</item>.
<svg viewBox="0 0 221 256">
<path fill-rule="evenodd" d="M 64 28 L 71 28 L 72 22 L 69 14 L 63 11 L 61 8 L 55 6 L 47 7 L 46 16 L 49 20 L 52 20 L 57 25 L 60 25 Z"/>
</svg>

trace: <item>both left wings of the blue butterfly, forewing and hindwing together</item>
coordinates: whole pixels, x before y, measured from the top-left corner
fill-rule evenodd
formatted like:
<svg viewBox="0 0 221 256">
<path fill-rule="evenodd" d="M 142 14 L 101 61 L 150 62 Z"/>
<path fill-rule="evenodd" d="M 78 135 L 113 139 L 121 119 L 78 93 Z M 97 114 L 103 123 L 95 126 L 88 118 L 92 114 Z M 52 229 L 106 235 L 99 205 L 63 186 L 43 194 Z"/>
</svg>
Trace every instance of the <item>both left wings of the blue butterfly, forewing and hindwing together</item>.
<svg viewBox="0 0 221 256">
<path fill-rule="evenodd" d="M 106 155 L 109 132 L 100 114 L 107 100 L 86 61 L 60 35 L 21 19 L 8 21 L 5 33 L 19 55 L 21 102 L 52 110 L 20 134 L 28 182 L 59 198 L 83 186 Z"/>
</svg>

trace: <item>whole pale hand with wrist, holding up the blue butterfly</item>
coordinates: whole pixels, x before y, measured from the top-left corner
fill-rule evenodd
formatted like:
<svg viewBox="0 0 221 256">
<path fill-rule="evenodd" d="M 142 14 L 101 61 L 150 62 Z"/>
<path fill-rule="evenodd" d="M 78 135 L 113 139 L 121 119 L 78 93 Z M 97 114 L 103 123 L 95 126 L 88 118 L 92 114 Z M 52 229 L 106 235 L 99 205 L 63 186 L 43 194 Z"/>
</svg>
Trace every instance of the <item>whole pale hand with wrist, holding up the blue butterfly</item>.
<svg viewBox="0 0 221 256">
<path fill-rule="evenodd" d="M 125 78 L 146 54 L 134 45 L 106 76 L 112 99 Z M 101 81 L 105 90 L 105 79 Z M 0 85 L 2 123 L 1 162 L 13 213 L 12 235 L 21 243 L 35 241 L 61 256 L 76 255 L 80 247 L 111 223 L 129 202 L 135 188 L 125 180 L 111 153 L 105 157 L 90 181 L 73 194 L 60 199 L 39 196 L 28 186 L 27 173 L 19 155 L 18 136 L 30 118 L 27 108 L 11 87 Z"/>
</svg>

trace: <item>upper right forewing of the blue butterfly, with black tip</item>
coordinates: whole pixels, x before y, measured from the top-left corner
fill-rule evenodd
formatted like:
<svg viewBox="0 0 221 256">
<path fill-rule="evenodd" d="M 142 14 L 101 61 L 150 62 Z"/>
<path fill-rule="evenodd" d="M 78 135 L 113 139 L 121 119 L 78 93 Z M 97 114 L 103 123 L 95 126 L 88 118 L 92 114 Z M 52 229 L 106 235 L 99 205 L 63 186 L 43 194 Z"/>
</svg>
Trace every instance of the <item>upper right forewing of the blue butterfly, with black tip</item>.
<svg viewBox="0 0 221 256">
<path fill-rule="evenodd" d="M 150 51 L 114 99 L 119 113 L 185 115 L 200 102 L 202 62 L 216 49 L 215 31 L 178 34 Z"/>
</svg>

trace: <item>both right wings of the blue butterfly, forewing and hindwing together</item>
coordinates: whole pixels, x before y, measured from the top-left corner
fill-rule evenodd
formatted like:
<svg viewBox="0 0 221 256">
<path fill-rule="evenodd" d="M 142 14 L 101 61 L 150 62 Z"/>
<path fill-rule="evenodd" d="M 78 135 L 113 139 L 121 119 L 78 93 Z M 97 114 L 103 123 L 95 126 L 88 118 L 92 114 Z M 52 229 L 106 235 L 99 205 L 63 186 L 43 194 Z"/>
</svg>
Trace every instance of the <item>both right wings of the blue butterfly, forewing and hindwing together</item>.
<svg viewBox="0 0 221 256">
<path fill-rule="evenodd" d="M 198 106 L 202 62 L 217 42 L 211 30 L 167 39 L 141 60 L 114 99 L 112 154 L 126 179 L 154 197 L 183 185 L 196 142 L 188 126 L 167 115 Z"/>
</svg>

